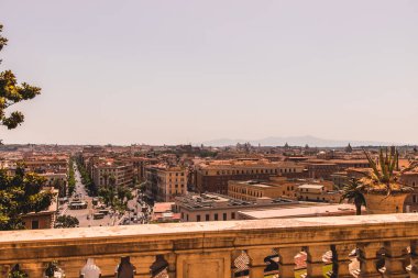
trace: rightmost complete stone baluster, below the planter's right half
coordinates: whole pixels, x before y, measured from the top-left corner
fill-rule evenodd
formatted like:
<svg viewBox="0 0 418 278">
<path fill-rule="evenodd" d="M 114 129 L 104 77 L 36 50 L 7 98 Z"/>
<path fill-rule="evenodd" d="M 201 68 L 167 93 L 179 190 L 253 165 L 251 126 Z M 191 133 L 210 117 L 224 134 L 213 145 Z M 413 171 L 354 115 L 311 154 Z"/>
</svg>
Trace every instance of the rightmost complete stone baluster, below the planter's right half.
<svg viewBox="0 0 418 278">
<path fill-rule="evenodd" d="M 407 241 L 385 242 L 385 278 L 409 277 L 409 274 L 406 271 L 408 246 L 409 242 Z"/>
</svg>

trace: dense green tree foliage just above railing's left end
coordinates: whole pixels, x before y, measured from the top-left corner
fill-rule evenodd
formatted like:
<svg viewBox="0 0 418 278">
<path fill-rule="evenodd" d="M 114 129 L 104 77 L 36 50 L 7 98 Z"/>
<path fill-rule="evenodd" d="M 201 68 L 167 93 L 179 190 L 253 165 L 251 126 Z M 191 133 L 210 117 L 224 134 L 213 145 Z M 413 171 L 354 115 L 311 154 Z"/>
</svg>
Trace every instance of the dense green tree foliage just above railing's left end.
<svg viewBox="0 0 418 278">
<path fill-rule="evenodd" d="M 0 230 L 24 229 L 22 215 L 46 210 L 54 198 L 51 190 L 42 190 L 45 179 L 19 167 L 13 177 L 0 169 Z"/>
</svg>

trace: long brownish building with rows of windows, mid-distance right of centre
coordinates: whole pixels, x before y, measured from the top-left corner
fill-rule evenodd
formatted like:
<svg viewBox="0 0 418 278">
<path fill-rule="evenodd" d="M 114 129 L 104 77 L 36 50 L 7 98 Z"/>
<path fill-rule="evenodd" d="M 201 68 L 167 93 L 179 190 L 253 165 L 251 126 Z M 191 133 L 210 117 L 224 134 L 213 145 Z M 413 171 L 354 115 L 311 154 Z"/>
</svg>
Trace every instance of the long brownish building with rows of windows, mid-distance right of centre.
<svg viewBox="0 0 418 278">
<path fill-rule="evenodd" d="M 261 159 L 216 160 L 196 167 L 196 187 L 200 192 L 228 194 L 228 181 L 268 179 L 272 176 L 301 177 L 305 167 L 294 163 L 271 163 Z"/>
</svg>

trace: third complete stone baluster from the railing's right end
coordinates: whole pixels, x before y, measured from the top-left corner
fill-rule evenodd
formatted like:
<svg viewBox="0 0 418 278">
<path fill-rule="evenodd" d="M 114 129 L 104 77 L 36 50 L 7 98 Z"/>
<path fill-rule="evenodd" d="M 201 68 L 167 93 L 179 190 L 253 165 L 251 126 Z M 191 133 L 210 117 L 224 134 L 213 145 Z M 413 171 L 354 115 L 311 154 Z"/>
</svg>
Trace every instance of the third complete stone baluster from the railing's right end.
<svg viewBox="0 0 418 278">
<path fill-rule="evenodd" d="M 332 246 L 332 277 L 351 278 L 349 257 L 350 253 L 355 249 L 355 244 L 339 244 Z"/>
</svg>

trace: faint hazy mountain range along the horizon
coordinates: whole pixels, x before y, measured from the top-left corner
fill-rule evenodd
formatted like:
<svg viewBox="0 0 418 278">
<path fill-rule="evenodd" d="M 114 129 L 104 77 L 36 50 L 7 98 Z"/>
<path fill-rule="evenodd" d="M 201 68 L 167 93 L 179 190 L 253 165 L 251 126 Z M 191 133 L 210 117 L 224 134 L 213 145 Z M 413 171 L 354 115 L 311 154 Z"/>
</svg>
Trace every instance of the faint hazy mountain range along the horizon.
<svg viewBox="0 0 418 278">
<path fill-rule="evenodd" d="M 202 142 L 206 146 L 234 146 L 237 143 L 244 144 L 250 142 L 251 145 L 257 146 L 284 146 L 286 143 L 289 146 L 305 146 L 308 144 L 310 147 L 344 147 L 349 143 L 351 146 L 388 146 L 388 145 L 399 145 L 394 142 L 374 142 L 374 141 L 339 141 L 339 140 L 326 140 L 315 136 L 289 136 L 289 137 L 265 137 L 261 140 L 230 140 L 230 138 L 219 138 Z"/>
</svg>

